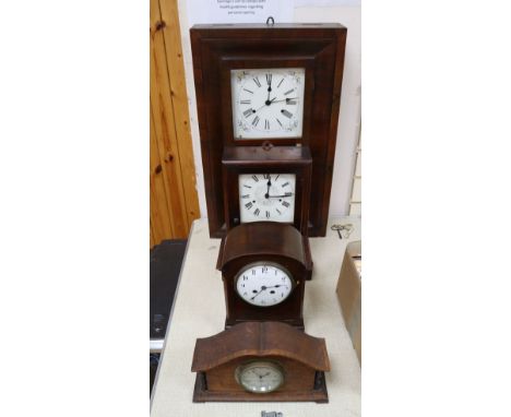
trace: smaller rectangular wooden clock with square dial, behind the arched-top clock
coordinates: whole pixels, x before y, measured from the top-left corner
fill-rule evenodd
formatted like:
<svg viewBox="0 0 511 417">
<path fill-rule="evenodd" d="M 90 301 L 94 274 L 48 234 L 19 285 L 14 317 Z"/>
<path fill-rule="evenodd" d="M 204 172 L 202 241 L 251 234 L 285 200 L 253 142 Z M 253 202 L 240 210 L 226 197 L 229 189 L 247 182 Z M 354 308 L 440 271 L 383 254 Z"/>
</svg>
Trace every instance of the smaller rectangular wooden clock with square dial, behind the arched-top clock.
<svg viewBox="0 0 511 417">
<path fill-rule="evenodd" d="M 227 229 L 280 222 L 307 235 L 312 168 L 308 146 L 226 146 L 222 165 Z"/>
</svg>

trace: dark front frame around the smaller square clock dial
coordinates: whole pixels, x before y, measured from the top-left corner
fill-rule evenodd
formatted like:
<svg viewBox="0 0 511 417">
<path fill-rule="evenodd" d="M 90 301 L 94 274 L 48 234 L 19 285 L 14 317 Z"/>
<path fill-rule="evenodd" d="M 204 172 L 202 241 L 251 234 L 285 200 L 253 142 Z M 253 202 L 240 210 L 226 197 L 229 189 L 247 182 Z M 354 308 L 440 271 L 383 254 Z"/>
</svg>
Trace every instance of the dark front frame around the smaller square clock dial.
<svg viewBox="0 0 511 417">
<path fill-rule="evenodd" d="M 227 150 L 227 148 L 226 148 Z M 236 148 L 234 148 L 236 151 Z M 304 150 L 305 151 L 305 150 Z M 304 236 L 308 234 L 311 159 L 305 157 L 300 160 L 222 160 L 223 190 L 224 190 L 224 218 L 226 229 L 240 225 L 239 176 L 242 174 L 294 174 L 295 183 L 295 214 L 293 225 Z"/>
</svg>

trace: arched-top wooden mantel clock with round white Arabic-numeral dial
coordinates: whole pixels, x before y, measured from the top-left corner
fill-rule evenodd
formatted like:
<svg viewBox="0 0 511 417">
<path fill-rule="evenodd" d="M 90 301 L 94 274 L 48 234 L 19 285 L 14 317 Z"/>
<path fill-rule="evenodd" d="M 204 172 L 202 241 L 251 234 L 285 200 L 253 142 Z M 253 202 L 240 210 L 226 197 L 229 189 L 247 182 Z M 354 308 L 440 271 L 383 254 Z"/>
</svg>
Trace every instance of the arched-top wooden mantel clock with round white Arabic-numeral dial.
<svg viewBox="0 0 511 417">
<path fill-rule="evenodd" d="M 304 329 L 305 282 L 312 274 L 306 236 L 275 222 L 246 223 L 222 240 L 217 269 L 226 302 L 225 326 L 282 321 Z"/>
</svg>

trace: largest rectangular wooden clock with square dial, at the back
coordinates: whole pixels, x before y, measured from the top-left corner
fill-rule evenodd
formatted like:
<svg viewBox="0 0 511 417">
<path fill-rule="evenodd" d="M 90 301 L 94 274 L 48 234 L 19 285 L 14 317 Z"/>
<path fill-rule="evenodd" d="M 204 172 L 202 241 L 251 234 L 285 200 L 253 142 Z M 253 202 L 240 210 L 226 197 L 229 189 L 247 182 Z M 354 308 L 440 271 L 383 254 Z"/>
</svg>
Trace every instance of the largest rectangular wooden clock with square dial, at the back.
<svg viewBox="0 0 511 417">
<path fill-rule="evenodd" d="M 346 28 L 340 24 L 190 29 L 210 235 L 223 237 L 225 146 L 309 146 L 309 236 L 326 230 Z"/>
</svg>

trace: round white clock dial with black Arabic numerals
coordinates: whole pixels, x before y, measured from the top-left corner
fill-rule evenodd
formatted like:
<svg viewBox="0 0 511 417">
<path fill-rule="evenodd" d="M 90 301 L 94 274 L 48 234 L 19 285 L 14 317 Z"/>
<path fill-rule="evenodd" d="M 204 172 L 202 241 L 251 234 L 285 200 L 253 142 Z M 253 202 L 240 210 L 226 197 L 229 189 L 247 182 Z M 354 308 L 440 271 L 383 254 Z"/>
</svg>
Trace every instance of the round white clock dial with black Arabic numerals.
<svg viewBox="0 0 511 417">
<path fill-rule="evenodd" d="M 293 290 L 290 274 L 282 266 L 257 263 L 242 269 L 236 279 L 236 291 L 248 303 L 271 307 L 283 302 Z"/>
</svg>

